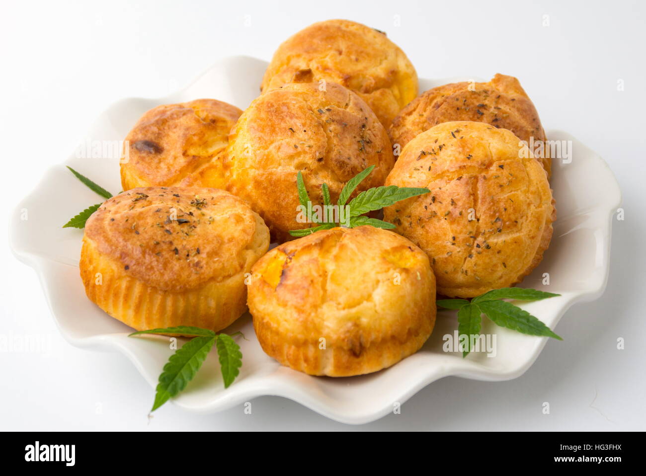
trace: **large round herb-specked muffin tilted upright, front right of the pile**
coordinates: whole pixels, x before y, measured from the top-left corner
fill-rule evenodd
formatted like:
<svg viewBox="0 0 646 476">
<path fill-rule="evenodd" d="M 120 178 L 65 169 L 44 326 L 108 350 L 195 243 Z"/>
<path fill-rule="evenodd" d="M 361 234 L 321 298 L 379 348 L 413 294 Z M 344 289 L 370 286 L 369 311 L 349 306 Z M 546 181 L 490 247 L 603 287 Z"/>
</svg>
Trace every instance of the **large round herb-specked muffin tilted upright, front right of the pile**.
<svg viewBox="0 0 646 476">
<path fill-rule="evenodd" d="M 556 211 L 547 175 L 509 130 L 438 124 L 406 144 L 386 185 L 430 189 L 384 209 L 384 220 L 426 251 L 442 295 L 514 285 L 550 243 Z"/>
</svg>

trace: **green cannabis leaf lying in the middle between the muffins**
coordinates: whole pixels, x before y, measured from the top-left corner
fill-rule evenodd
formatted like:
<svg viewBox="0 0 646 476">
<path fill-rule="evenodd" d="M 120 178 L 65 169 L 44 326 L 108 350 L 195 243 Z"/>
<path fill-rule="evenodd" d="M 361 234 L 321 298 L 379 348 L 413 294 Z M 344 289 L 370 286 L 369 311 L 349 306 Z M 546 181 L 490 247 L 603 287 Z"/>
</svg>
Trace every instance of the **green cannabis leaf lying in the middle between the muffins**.
<svg viewBox="0 0 646 476">
<path fill-rule="evenodd" d="M 337 202 L 337 207 L 339 208 L 337 217 L 340 219 L 341 216 L 346 216 L 349 218 L 348 223 L 349 228 L 360 227 L 361 225 L 371 225 L 376 228 L 386 228 L 393 229 L 396 228 L 393 223 L 384 222 L 383 220 L 378 220 L 377 218 L 370 218 L 364 216 L 364 213 L 370 211 L 377 211 L 383 207 L 388 207 L 397 203 L 400 200 L 405 200 L 406 198 L 411 198 L 417 195 L 422 195 L 430 192 L 429 189 L 414 188 L 414 187 L 397 187 L 397 185 L 388 185 L 388 187 L 373 187 L 366 191 L 360 192 L 353 200 L 351 200 L 348 205 L 349 196 L 357 189 L 359 184 L 368 176 L 370 172 L 375 168 L 374 165 L 368 167 L 368 169 L 359 172 L 353 178 L 348 180 L 348 183 L 343 187 L 340 195 L 339 201 Z M 303 207 L 307 209 L 307 205 L 310 202 L 309 195 L 307 194 L 307 189 L 305 188 L 305 182 L 303 180 L 303 175 L 301 172 L 297 174 L 297 189 L 298 189 L 298 201 Z M 331 205 L 331 200 L 329 198 L 329 187 L 327 183 L 321 185 L 321 192 L 323 195 L 323 205 L 328 207 Z M 345 214 L 342 213 L 342 209 L 345 207 L 347 211 Z M 329 216 L 324 214 L 324 216 Z M 318 220 L 318 214 L 315 214 L 312 219 L 315 223 L 320 223 Z M 315 233 L 320 230 L 329 230 L 330 228 L 338 226 L 336 222 L 326 222 L 318 225 L 313 228 L 304 228 L 300 230 L 291 230 L 289 234 L 291 236 L 307 236 L 308 234 Z"/>
</svg>

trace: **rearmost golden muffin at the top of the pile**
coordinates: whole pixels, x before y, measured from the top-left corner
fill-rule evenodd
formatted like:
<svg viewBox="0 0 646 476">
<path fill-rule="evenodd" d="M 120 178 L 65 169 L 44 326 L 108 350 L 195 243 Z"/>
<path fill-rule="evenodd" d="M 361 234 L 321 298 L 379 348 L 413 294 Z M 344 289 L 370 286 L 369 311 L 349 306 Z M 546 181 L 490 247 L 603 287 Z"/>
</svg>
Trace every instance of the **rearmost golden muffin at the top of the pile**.
<svg viewBox="0 0 646 476">
<path fill-rule="evenodd" d="M 404 52 L 384 32 L 354 21 L 321 21 L 287 39 L 260 90 L 321 79 L 359 94 L 384 127 L 417 96 L 417 73 Z"/>
</svg>

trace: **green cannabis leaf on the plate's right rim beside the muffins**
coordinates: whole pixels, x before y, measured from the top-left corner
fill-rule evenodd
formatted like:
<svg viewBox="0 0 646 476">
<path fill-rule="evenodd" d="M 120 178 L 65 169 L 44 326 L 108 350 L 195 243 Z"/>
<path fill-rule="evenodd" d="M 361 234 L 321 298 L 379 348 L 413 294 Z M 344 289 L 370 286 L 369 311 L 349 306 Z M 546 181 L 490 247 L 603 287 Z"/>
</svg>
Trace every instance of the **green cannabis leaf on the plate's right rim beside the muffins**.
<svg viewBox="0 0 646 476">
<path fill-rule="evenodd" d="M 472 351 L 471 337 L 480 334 L 483 314 L 501 327 L 507 327 L 523 334 L 547 336 L 563 340 L 535 316 L 517 305 L 502 300 L 537 301 L 554 296 L 560 295 L 523 287 L 503 287 L 488 291 L 488 293 L 477 296 L 471 301 L 466 299 L 441 299 L 437 301 L 437 305 L 445 309 L 457 309 L 458 333 L 461 336 L 468 337 L 463 346 L 463 357 L 466 357 Z"/>
</svg>

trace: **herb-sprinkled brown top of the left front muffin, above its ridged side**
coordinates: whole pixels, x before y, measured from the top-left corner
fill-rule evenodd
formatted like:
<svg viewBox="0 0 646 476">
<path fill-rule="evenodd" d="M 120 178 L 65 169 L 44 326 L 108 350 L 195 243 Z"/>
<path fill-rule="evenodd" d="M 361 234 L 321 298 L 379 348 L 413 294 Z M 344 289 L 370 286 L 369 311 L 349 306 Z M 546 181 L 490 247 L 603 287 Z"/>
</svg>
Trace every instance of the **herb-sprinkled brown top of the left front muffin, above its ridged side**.
<svg viewBox="0 0 646 476">
<path fill-rule="evenodd" d="M 229 192 L 142 187 L 104 202 L 87 220 L 85 238 L 134 278 L 180 291 L 238 273 L 268 245 L 269 231 Z"/>
</svg>

